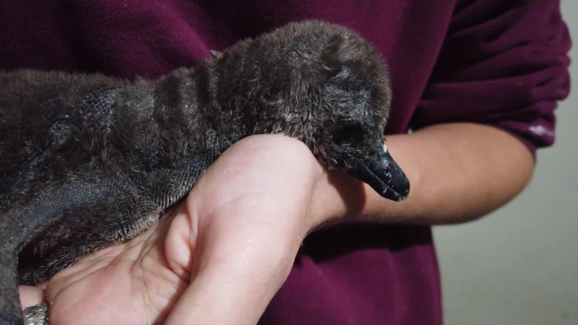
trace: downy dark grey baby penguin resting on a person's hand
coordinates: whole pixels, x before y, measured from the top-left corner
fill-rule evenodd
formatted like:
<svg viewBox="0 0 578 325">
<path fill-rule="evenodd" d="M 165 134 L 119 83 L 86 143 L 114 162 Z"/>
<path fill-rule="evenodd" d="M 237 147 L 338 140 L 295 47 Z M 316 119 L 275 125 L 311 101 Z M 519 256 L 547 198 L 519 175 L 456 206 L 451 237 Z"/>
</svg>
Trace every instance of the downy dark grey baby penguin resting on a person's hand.
<svg viewBox="0 0 578 325">
<path fill-rule="evenodd" d="M 390 200 L 409 182 L 387 152 L 387 70 L 347 28 L 292 23 L 158 80 L 0 74 L 0 323 L 35 285 L 139 235 L 239 139 L 284 134 Z M 47 324 L 47 305 L 27 311 Z"/>
</svg>

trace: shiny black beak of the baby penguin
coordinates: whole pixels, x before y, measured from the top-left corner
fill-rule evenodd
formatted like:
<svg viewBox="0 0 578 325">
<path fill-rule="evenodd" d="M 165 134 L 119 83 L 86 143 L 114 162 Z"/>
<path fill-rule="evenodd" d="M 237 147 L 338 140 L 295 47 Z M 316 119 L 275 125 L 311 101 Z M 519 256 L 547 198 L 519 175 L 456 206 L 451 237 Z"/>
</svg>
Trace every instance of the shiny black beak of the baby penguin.
<svg viewBox="0 0 578 325">
<path fill-rule="evenodd" d="M 382 147 L 383 145 L 383 147 Z M 379 144 L 375 154 L 355 157 L 351 176 L 369 184 L 382 197 L 402 201 L 409 194 L 409 180 L 397 162 L 387 152 L 384 143 Z"/>
</svg>

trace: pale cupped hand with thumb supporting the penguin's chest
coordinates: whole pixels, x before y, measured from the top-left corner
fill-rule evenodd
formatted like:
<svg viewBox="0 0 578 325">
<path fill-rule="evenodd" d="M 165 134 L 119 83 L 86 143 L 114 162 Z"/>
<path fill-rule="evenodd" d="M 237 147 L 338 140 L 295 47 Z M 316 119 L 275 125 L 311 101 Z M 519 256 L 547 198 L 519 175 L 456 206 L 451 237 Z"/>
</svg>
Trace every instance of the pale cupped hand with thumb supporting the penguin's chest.
<svg viewBox="0 0 578 325">
<path fill-rule="evenodd" d="M 256 135 L 231 146 L 176 206 L 131 241 L 21 287 L 51 324 L 255 324 L 320 223 L 324 169 L 303 143 Z"/>
</svg>

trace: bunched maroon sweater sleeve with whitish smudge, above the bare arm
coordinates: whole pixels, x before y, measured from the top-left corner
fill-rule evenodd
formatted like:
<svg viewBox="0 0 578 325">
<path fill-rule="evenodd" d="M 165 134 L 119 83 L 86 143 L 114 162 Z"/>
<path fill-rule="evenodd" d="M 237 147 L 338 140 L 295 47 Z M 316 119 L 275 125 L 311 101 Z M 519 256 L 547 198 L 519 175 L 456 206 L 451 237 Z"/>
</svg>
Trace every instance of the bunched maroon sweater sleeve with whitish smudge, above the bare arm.
<svg viewBox="0 0 578 325">
<path fill-rule="evenodd" d="M 535 154 L 554 143 L 570 45 L 558 1 L 458 1 L 412 128 L 493 125 Z"/>
</svg>

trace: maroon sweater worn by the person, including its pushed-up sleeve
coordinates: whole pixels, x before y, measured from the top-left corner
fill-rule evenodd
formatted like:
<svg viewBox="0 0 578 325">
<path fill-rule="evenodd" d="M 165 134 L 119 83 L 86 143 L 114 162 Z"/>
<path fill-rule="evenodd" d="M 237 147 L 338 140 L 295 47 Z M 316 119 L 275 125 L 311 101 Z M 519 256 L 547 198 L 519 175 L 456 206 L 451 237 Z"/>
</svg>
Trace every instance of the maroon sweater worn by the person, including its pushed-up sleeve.
<svg viewBox="0 0 578 325">
<path fill-rule="evenodd" d="M 158 77 L 290 21 L 347 25 L 386 58 L 386 134 L 470 121 L 532 151 L 569 92 L 558 1 L 68 0 L 0 3 L 0 69 Z M 429 227 L 343 226 L 307 238 L 261 324 L 439 324 Z"/>
</svg>

